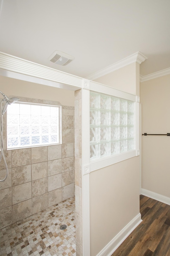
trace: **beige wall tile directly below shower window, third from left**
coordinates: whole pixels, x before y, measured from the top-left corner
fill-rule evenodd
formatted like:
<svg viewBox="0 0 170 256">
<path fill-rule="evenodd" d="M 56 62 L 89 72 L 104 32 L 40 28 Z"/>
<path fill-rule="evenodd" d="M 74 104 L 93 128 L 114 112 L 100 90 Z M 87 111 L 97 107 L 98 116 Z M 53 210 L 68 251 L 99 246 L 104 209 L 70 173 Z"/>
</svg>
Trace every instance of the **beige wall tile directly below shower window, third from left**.
<svg viewBox="0 0 170 256">
<path fill-rule="evenodd" d="M 31 148 L 31 163 L 47 161 L 47 146 Z"/>
</svg>

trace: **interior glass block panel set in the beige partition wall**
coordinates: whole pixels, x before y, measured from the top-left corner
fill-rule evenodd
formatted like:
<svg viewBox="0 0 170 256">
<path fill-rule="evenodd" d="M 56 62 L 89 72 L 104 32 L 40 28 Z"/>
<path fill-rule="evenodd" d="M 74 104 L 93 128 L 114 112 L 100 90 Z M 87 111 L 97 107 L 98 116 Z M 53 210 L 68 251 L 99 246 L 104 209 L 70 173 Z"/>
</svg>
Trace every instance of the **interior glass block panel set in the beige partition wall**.
<svg viewBox="0 0 170 256">
<path fill-rule="evenodd" d="M 90 159 L 134 150 L 134 102 L 90 92 Z"/>
</svg>

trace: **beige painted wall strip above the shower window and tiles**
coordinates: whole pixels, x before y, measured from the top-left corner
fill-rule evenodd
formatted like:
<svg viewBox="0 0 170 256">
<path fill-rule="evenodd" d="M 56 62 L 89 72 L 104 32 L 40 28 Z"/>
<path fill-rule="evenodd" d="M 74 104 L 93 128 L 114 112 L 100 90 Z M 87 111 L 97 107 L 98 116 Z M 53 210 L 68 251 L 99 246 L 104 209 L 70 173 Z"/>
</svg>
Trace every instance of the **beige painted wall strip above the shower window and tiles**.
<svg viewBox="0 0 170 256">
<path fill-rule="evenodd" d="M 9 77 L 0 76 L 0 91 L 7 96 L 59 101 L 61 105 L 74 106 L 74 91 L 40 85 Z M 0 96 L 1 98 L 1 96 Z"/>
</svg>

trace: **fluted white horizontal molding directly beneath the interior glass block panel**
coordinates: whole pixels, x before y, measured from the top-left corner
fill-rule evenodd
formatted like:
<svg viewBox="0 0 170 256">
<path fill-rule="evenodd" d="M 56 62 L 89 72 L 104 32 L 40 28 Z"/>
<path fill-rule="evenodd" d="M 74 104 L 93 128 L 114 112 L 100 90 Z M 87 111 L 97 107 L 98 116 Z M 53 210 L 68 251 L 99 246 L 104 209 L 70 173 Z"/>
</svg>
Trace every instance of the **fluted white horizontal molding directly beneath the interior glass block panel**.
<svg viewBox="0 0 170 256">
<path fill-rule="evenodd" d="M 109 157 L 99 158 L 96 160 L 90 161 L 90 172 L 104 168 L 109 165 L 113 165 L 114 163 L 118 163 L 124 161 L 126 159 L 136 157 L 136 150 L 127 151 L 125 153 L 112 155 Z"/>
</svg>

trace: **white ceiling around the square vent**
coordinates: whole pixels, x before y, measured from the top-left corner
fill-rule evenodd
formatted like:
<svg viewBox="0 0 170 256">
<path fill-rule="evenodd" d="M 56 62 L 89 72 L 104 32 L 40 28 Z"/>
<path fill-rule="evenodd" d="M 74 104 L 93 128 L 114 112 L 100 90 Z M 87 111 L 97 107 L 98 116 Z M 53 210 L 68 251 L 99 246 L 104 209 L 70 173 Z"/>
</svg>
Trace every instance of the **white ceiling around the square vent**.
<svg viewBox="0 0 170 256">
<path fill-rule="evenodd" d="M 140 51 L 140 74 L 170 67 L 169 0 L 0 0 L 0 51 L 80 77 Z M 59 50 L 67 66 L 48 60 Z"/>
</svg>

